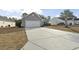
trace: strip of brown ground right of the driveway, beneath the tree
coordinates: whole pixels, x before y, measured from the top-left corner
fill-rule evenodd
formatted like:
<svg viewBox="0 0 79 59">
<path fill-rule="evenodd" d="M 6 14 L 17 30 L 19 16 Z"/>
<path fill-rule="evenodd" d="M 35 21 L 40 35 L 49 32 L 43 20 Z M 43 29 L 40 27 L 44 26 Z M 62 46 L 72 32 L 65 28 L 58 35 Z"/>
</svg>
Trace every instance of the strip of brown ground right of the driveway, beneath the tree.
<svg viewBox="0 0 79 59">
<path fill-rule="evenodd" d="M 69 28 L 65 28 L 64 25 L 54 25 L 54 26 L 47 26 L 47 28 L 79 33 L 79 26 L 71 26 Z"/>
</svg>

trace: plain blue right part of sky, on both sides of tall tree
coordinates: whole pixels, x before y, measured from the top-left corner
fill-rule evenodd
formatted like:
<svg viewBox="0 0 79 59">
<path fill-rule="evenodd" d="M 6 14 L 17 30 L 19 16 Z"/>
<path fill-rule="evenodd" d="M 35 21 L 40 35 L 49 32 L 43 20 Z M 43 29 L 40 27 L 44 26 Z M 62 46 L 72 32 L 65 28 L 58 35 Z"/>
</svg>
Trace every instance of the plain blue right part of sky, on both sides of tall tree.
<svg viewBox="0 0 79 59">
<path fill-rule="evenodd" d="M 64 9 L 43 9 L 43 15 L 45 16 L 59 16 Z M 74 15 L 79 17 L 79 9 L 70 9 Z"/>
</svg>

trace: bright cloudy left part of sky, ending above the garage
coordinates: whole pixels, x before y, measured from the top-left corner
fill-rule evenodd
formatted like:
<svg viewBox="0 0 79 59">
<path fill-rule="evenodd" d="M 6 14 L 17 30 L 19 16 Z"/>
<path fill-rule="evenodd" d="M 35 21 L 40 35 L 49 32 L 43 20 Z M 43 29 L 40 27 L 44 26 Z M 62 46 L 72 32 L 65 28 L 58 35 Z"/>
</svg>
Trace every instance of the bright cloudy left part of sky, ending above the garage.
<svg viewBox="0 0 79 59">
<path fill-rule="evenodd" d="M 22 13 L 30 14 L 32 12 L 42 14 L 42 10 L 40 9 L 0 9 L 0 15 L 7 17 L 15 17 L 17 19 L 21 18 Z"/>
</svg>

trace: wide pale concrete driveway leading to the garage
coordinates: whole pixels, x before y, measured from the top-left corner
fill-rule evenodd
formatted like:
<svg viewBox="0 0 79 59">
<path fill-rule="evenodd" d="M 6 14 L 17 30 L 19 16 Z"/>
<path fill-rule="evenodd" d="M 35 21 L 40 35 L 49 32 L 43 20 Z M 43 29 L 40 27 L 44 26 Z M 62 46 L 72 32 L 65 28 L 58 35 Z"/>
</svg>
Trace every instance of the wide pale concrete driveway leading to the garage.
<svg viewBox="0 0 79 59">
<path fill-rule="evenodd" d="M 48 28 L 27 30 L 28 43 L 22 50 L 77 50 L 79 34 Z"/>
</svg>

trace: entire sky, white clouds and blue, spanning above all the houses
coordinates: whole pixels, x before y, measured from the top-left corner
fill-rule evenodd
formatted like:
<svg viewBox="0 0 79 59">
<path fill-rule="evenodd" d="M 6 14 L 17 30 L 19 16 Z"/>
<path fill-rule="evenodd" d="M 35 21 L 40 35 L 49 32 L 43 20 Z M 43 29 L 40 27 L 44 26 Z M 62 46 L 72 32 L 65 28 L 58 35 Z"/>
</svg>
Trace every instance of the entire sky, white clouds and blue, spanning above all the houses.
<svg viewBox="0 0 79 59">
<path fill-rule="evenodd" d="M 39 14 L 42 14 L 44 16 L 51 16 L 51 17 L 57 17 L 60 15 L 61 12 L 63 12 L 64 9 L 29 9 L 29 10 L 24 10 L 24 9 L 18 9 L 18 10 L 3 10 L 0 9 L 0 15 L 1 16 L 11 16 L 11 17 L 17 17 L 20 18 L 23 12 L 26 13 L 31 13 L 31 12 L 36 12 Z M 77 17 L 79 16 L 79 9 L 70 9 L 74 15 Z"/>
</svg>

